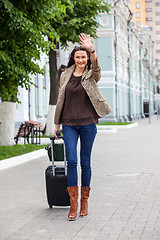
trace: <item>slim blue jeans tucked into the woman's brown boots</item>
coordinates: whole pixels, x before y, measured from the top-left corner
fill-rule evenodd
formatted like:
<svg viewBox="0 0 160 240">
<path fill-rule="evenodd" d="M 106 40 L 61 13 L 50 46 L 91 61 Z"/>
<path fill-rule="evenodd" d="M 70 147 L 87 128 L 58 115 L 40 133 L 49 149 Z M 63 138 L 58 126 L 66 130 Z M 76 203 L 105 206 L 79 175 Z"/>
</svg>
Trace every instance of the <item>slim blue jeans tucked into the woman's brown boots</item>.
<svg viewBox="0 0 160 240">
<path fill-rule="evenodd" d="M 80 136 L 81 185 L 90 187 L 91 151 L 96 133 L 96 124 L 63 126 L 63 137 L 67 157 L 68 186 L 78 185 L 77 142 Z"/>
</svg>

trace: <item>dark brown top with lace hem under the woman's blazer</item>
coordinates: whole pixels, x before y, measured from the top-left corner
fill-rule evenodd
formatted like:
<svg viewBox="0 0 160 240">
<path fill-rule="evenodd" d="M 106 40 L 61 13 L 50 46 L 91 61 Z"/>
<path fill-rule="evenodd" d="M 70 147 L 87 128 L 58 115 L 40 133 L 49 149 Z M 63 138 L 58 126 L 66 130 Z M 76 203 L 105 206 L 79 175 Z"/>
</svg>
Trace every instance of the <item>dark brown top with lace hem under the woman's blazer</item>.
<svg viewBox="0 0 160 240">
<path fill-rule="evenodd" d="M 72 74 L 67 83 L 61 115 L 63 125 L 85 125 L 98 122 L 96 113 L 86 91 L 81 85 L 82 76 Z"/>
</svg>

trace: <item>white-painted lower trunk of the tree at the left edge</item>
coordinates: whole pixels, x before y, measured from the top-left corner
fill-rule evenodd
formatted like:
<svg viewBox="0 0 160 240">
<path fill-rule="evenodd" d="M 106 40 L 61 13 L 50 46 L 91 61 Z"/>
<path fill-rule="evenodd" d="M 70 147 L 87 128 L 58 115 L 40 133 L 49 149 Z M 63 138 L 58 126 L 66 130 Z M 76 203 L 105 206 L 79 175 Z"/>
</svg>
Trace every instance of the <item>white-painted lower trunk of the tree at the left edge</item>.
<svg viewBox="0 0 160 240">
<path fill-rule="evenodd" d="M 0 146 L 14 145 L 15 102 L 0 104 Z"/>
</svg>

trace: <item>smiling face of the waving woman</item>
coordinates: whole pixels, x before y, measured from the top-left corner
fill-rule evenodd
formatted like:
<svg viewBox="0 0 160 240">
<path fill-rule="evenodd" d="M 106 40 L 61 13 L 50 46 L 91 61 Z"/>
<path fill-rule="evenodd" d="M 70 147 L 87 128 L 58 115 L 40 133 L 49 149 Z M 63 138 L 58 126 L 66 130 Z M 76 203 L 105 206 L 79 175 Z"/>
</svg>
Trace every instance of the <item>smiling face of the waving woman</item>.
<svg viewBox="0 0 160 240">
<path fill-rule="evenodd" d="M 87 56 L 87 52 L 80 50 L 80 51 L 76 51 L 74 54 L 74 61 L 76 64 L 76 67 L 78 67 L 79 69 L 84 69 L 85 66 L 87 65 L 87 61 L 88 61 L 88 56 Z"/>
</svg>

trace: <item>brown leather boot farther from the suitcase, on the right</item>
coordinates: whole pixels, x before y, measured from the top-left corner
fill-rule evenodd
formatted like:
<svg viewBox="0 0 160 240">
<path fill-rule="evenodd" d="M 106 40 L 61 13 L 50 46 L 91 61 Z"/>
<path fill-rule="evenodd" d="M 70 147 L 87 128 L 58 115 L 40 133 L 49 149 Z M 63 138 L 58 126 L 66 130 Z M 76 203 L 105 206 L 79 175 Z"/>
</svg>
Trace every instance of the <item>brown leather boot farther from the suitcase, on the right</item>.
<svg viewBox="0 0 160 240">
<path fill-rule="evenodd" d="M 90 187 L 81 187 L 81 209 L 80 209 L 80 216 L 84 217 L 88 215 L 88 198 Z"/>
</svg>

